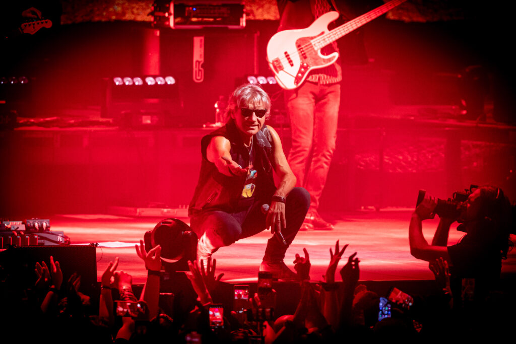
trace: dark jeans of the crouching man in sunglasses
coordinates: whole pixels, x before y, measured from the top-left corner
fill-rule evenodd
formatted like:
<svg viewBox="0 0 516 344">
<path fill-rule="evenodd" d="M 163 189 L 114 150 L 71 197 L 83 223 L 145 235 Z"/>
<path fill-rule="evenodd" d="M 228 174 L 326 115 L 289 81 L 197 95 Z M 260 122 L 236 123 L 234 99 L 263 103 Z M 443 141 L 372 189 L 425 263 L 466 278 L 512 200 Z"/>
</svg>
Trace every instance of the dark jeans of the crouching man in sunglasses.
<svg viewBox="0 0 516 344">
<path fill-rule="evenodd" d="M 190 219 L 190 226 L 207 245 L 211 253 L 220 247 L 229 246 L 233 242 L 248 238 L 265 230 L 266 214 L 262 205 L 268 202 L 256 201 L 249 209 L 228 213 L 220 210 L 207 210 Z M 285 241 L 290 245 L 296 237 L 304 217 L 310 206 L 310 194 L 303 188 L 294 188 L 286 198 L 285 218 L 286 228 L 282 231 Z M 203 238 L 204 236 L 204 238 Z M 281 261 L 288 246 L 283 245 L 276 237 L 267 242 L 265 261 Z"/>
</svg>

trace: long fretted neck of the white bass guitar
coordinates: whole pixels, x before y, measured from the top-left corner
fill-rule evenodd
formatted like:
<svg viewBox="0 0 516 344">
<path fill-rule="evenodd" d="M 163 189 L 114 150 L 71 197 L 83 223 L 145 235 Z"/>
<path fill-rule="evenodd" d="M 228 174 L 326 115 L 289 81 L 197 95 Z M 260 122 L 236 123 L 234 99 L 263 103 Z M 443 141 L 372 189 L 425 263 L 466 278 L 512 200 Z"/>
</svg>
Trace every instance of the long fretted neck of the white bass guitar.
<svg viewBox="0 0 516 344">
<path fill-rule="evenodd" d="M 316 49 L 320 49 L 337 39 L 349 34 L 349 32 L 358 29 L 364 24 L 372 21 L 375 18 L 380 17 L 380 15 L 389 12 L 394 7 L 406 2 L 407 0 L 392 0 L 374 10 L 371 10 L 367 13 L 362 14 L 360 17 L 357 17 L 341 26 L 334 28 L 329 31 L 326 35 L 319 36 L 312 40 L 312 44 Z"/>
</svg>

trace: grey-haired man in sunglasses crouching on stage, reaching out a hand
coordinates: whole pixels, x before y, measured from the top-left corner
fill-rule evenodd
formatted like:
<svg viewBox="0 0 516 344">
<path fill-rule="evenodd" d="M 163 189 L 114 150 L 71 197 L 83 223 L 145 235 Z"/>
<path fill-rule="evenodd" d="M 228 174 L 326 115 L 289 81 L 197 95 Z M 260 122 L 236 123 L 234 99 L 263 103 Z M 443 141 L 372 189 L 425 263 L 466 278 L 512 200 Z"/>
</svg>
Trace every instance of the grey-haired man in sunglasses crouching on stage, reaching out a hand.
<svg viewBox="0 0 516 344">
<path fill-rule="evenodd" d="M 294 187 L 296 177 L 278 133 L 265 125 L 269 117 L 270 99 L 259 85 L 243 85 L 233 92 L 227 123 L 201 140 L 201 172 L 188 215 L 199 237 L 198 261 L 270 228 L 273 236 L 260 271 L 292 280 L 296 274 L 283 258 L 307 214 L 310 194 Z"/>
</svg>

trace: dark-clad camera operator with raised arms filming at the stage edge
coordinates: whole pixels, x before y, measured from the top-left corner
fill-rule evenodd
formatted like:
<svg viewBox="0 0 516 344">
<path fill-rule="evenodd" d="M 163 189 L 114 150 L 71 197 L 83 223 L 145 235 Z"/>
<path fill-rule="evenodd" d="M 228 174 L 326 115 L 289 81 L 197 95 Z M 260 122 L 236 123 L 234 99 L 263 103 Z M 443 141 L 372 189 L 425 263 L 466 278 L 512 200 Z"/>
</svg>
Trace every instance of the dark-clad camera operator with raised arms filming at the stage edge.
<svg viewBox="0 0 516 344">
<path fill-rule="evenodd" d="M 448 261 L 454 299 L 459 302 L 460 296 L 464 299 L 467 283 L 474 286 L 473 300 L 482 301 L 497 287 L 502 259 L 507 258 L 512 246 L 509 240 L 511 204 L 501 189 L 492 186 L 472 188 L 463 202 L 448 202 L 455 206 L 455 211 L 441 211 L 442 207 L 436 208 L 438 203 L 446 202 L 426 195 L 412 214 L 410 253 L 426 261 L 438 258 Z M 423 236 L 422 221 L 432 219 L 436 213 L 441 220 L 432 243 L 428 244 Z M 461 223 L 457 229 L 466 235 L 457 244 L 446 246 L 450 225 L 455 221 Z"/>
</svg>

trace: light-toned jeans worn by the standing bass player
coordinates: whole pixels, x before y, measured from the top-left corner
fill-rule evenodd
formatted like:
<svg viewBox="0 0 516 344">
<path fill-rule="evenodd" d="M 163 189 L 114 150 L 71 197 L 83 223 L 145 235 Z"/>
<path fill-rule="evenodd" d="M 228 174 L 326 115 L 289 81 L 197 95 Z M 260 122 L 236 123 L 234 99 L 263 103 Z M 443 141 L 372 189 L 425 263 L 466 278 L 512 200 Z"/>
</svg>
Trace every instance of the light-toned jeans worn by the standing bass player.
<svg viewBox="0 0 516 344">
<path fill-rule="evenodd" d="M 297 186 L 310 193 L 310 207 L 317 209 L 330 169 L 337 138 L 341 85 L 318 85 L 305 81 L 285 91 L 285 103 L 292 127 L 292 148 L 288 164 Z"/>
</svg>

